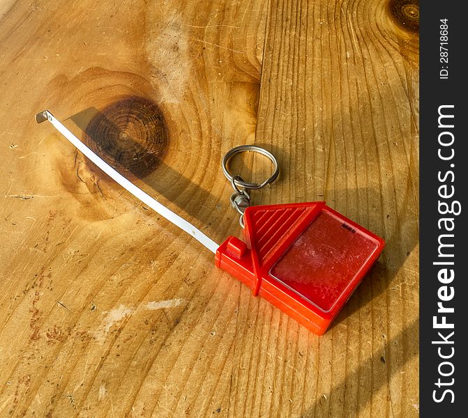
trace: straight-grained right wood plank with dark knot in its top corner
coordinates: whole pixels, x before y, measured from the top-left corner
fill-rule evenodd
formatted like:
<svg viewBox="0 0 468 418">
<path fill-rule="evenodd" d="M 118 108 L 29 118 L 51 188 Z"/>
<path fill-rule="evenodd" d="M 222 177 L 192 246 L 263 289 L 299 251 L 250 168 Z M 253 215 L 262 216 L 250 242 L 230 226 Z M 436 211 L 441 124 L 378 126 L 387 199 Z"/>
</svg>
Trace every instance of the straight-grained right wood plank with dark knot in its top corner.
<svg viewBox="0 0 468 418">
<path fill-rule="evenodd" d="M 269 10 L 256 141 L 283 176 L 262 203 L 324 199 L 387 246 L 322 337 L 241 291 L 230 416 L 418 416 L 417 4 Z"/>
</svg>

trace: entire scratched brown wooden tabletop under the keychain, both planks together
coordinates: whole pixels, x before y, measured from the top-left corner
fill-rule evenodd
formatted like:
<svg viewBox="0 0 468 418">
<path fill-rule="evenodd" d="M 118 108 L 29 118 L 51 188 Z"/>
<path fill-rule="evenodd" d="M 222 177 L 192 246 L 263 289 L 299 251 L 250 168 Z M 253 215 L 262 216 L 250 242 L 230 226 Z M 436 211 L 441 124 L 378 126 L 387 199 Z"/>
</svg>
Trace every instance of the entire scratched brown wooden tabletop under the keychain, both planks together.
<svg viewBox="0 0 468 418">
<path fill-rule="evenodd" d="M 1 2 L 0 416 L 418 416 L 417 19 L 403 0 Z M 255 143 L 282 170 L 255 203 L 326 200 L 387 247 L 315 336 L 36 125 L 45 108 L 216 242 L 239 234 L 220 159 Z"/>
</svg>

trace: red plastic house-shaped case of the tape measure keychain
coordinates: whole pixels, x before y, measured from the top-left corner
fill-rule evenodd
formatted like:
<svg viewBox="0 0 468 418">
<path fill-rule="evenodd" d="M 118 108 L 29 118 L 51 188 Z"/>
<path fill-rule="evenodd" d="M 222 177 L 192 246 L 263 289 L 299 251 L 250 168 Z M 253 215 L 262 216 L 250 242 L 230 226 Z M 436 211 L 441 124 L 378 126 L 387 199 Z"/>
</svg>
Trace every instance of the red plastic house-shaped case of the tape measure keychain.
<svg viewBox="0 0 468 418">
<path fill-rule="evenodd" d="M 229 237 L 216 266 L 322 335 L 384 249 L 325 202 L 250 206 L 246 242 Z"/>
</svg>

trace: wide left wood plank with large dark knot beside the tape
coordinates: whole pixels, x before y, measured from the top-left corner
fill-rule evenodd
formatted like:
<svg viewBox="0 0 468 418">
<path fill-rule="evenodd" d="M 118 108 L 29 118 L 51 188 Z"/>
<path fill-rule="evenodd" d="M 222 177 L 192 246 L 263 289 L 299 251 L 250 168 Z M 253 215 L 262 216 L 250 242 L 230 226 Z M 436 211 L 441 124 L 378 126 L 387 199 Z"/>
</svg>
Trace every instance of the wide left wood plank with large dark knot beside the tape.
<svg viewBox="0 0 468 418">
<path fill-rule="evenodd" d="M 241 285 L 33 115 L 74 116 L 112 154 L 110 132 L 139 184 L 220 241 L 239 231 L 220 158 L 255 132 L 265 15 L 259 1 L 17 1 L 3 15 L 1 415 L 226 410 Z M 119 139 L 163 160 L 139 167 Z"/>
</svg>

